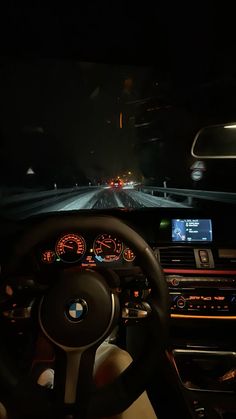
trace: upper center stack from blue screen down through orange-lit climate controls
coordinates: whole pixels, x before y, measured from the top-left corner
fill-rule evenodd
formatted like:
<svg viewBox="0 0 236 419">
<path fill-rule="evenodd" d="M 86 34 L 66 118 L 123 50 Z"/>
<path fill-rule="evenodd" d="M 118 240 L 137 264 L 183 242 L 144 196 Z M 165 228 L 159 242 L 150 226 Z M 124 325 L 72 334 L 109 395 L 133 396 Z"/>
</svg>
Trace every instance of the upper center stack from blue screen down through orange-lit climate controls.
<svg viewBox="0 0 236 419">
<path fill-rule="evenodd" d="M 216 246 L 209 218 L 175 218 L 163 225 L 169 246 L 155 251 L 166 273 L 171 316 L 236 320 L 236 249 Z"/>
</svg>

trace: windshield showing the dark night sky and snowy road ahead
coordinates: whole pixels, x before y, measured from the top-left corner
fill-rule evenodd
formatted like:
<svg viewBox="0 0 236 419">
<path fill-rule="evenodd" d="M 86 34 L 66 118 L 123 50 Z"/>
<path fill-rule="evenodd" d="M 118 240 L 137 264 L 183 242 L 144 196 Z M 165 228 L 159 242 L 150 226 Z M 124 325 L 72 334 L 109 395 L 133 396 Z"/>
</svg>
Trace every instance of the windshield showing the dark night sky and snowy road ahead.
<svg viewBox="0 0 236 419">
<path fill-rule="evenodd" d="M 234 80 L 152 66 L 0 61 L 1 212 L 235 202 L 235 160 L 191 156 L 199 129 L 235 121 Z"/>
</svg>

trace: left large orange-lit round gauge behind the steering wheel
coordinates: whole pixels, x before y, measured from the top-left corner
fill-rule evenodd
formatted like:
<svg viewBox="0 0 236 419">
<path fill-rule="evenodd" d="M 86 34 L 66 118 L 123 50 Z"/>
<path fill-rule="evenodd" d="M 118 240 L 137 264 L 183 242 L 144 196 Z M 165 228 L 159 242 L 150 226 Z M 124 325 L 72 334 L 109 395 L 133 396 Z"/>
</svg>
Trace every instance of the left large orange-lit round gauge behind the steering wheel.
<svg viewBox="0 0 236 419">
<path fill-rule="evenodd" d="M 84 238 L 77 234 L 66 234 L 56 244 L 57 256 L 66 263 L 78 262 L 85 254 Z"/>
</svg>

